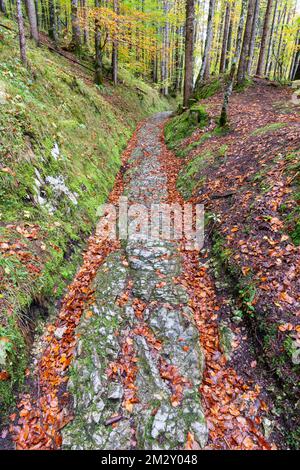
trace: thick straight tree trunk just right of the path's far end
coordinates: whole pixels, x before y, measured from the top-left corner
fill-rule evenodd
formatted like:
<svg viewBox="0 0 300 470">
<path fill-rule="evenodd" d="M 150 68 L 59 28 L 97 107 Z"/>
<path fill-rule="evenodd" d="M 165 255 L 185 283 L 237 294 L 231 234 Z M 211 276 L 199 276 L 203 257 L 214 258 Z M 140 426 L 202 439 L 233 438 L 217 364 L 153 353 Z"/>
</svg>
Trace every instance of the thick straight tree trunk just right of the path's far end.
<svg viewBox="0 0 300 470">
<path fill-rule="evenodd" d="M 185 72 L 184 72 L 184 97 L 183 106 L 189 105 L 189 99 L 193 93 L 194 72 L 194 29 L 195 29 L 195 0 L 186 2 L 186 26 L 185 26 Z"/>
</svg>

